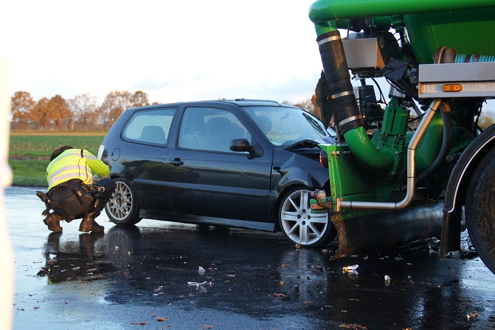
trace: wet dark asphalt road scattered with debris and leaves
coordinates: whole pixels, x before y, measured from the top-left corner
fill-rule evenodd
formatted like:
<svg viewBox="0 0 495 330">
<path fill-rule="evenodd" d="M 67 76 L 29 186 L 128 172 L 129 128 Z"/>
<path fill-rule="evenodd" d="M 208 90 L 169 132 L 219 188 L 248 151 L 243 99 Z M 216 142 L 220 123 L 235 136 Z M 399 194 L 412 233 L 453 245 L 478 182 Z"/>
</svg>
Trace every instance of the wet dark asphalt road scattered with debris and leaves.
<svg viewBox="0 0 495 330">
<path fill-rule="evenodd" d="M 441 260 L 421 244 L 330 261 L 335 243 L 326 247 L 329 252 L 298 250 L 281 233 L 156 220 L 121 229 L 104 215 L 98 218 L 102 234 L 80 233 L 78 220 L 63 222 L 63 233 L 54 234 L 43 224 L 36 190 L 5 190 L 16 261 L 14 329 L 495 324 L 495 275 L 473 253 Z M 342 272 L 354 264 L 358 274 Z M 479 316 L 468 320 L 470 313 Z"/>
</svg>

